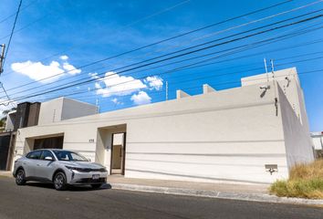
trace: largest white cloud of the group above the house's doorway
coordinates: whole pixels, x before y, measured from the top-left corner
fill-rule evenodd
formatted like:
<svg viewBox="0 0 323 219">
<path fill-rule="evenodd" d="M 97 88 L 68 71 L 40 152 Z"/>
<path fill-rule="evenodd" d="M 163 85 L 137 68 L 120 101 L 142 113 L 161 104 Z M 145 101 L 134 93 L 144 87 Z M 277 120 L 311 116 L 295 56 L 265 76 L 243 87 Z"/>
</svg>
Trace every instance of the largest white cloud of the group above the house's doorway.
<svg viewBox="0 0 323 219">
<path fill-rule="evenodd" d="M 140 79 L 120 76 L 115 72 L 107 72 L 105 78 L 100 78 L 99 81 L 103 82 L 105 88 L 99 82 L 95 83 L 95 88 L 97 89 L 97 94 L 102 95 L 102 97 L 125 96 L 147 88 Z"/>
</svg>

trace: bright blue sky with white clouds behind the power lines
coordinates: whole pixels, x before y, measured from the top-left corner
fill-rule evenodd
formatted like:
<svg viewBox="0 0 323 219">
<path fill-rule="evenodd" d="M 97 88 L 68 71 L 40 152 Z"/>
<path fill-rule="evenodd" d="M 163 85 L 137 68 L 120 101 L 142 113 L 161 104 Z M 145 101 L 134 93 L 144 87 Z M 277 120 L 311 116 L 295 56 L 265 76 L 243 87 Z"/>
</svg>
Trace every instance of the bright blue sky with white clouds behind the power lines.
<svg viewBox="0 0 323 219">
<path fill-rule="evenodd" d="M 10 98 L 19 99 L 34 92 L 42 92 L 57 85 L 71 83 L 79 78 L 95 78 L 96 74 L 104 75 L 113 69 L 151 57 L 158 57 L 178 49 L 236 34 L 250 28 L 265 26 L 293 16 L 303 15 L 321 9 L 323 6 L 322 3 L 318 3 L 283 16 L 276 16 L 253 25 L 215 34 L 232 26 L 242 25 L 259 18 L 276 15 L 279 12 L 316 2 L 295 0 L 252 16 L 245 16 L 154 47 L 147 47 L 140 51 L 112 58 L 88 68 L 76 69 L 105 57 L 111 57 L 170 36 L 176 36 L 233 16 L 243 15 L 268 5 L 274 5 L 278 2 L 280 1 L 25 0 L 17 20 L 16 33 L 13 36 L 5 61 L 5 71 L 1 76 L 1 81 L 4 83 L 5 89 L 8 89 Z M 18 3 L 19 1 L 17 0 L 1 1 L 1 44 L 7 44 L 7 36 L 10 34 L 14 17 L 4 22 L 1 21 L 16 12 Z M 26 5 L 28 6 L 26 7 Z M 322 26 L 322 22 L 322 18 L 318 18 L 308 21 L 306 24 L 286 27 L 261 36 L 250 37 L 225 46 L 214 47 L 186 57 L 172 59 L 154 66 L 120 74 L 116 74 L 118 71 L 108 73 L 115 75 L 108 77 L 109 79 L 104 81 L 93 81 L 85 85 L 75 86 L 47 95 L 44 94 L 28 100 L 46 100 L 74 92 L 83 92 L 70 96 L 70 98 L 93 104 L 98 99 L 100 111 L 119 110 L 164 100 L 166 81 L 169 84 L 170 99 L 175 98 L 176 89 L 182 89 L 192 95 L 200 94 L 204 83 L 208 83 L 218 90 L 239 87 L 240 78 L 265 71 L 263 58 L 266 57 L 267 59 L 273 58 L 275 60 L 276 69 L 297 67 L 301 85 L 304 89 L 310 129 L 312 131 L 323 130 L 323 110 L 321 108 L 323 98 L 320 95 L 323 91 L 322 86 L 320 86 L 323 81 L 323 71 L 302 74 L 311 70 L 323 69 L 322 58 L 320 58 L 323 53 L 323 44 L 319 42 L 302 47 L 297 46 L 322 39 L 323 31 L 321 29 L 308 31 L 307 34 L 290 37 L 262 47 L 253 47 L 233 54 L 226 54 L 210 61 L 218 62 L 212 65 L 164 73 L 207 57 L 169 64 L 171 62 L 248 45 L 255 41 L 299 31 L 302 28 L 316 28 Z M 284 47 L 285 49 L 282 49 Z M 313 60 L 302 61 L 304 59 Z M 152 68 L 162 64 L 167 65 Z M 35 82 L 39 78 L 55 75 L 67 69 L 69 72 L 61 74 L 59 78 Z M 149 76 L 151 77 L 147 78 Z M 129 80 L 131 80 L 130 83 L 109 87 L 114 83 Z M 29 86 L 17 88 L 29 82 L 33 83 Z M 1 93 L 0 95 L 3 96 L 4 94 Z"/>
</svg>

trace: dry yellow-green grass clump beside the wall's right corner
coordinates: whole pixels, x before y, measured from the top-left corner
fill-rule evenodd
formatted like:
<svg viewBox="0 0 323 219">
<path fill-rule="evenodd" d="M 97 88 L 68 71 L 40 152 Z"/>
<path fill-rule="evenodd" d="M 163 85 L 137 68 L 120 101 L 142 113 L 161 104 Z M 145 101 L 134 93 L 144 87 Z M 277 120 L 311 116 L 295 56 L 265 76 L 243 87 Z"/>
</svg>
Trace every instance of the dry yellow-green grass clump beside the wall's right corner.
<svg viewBox="0 0 323 219">
<path fill-rule="evenodd" d="M 287 181 L 276 181 L 270 193 L 277 196 L 323 199 L 323 159 L 294 166 Z"/>
</svg>

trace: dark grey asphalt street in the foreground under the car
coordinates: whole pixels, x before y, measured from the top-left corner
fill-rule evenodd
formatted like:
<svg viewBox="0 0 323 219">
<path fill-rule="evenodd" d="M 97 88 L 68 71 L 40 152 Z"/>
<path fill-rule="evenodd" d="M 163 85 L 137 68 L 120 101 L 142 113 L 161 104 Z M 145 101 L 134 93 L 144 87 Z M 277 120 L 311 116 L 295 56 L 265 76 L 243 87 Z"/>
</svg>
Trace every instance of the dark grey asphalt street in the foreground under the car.
<svg viewBox="0 0 323 219">
<path fill-rule="evenodd" d="M 160 193 L 76 187 L 57 192 L 52 185 L 0 176 L 0 219 L 11 218 L 290 218 L 320 219 L 323 208 L 255 203 Z"/>
</svg>

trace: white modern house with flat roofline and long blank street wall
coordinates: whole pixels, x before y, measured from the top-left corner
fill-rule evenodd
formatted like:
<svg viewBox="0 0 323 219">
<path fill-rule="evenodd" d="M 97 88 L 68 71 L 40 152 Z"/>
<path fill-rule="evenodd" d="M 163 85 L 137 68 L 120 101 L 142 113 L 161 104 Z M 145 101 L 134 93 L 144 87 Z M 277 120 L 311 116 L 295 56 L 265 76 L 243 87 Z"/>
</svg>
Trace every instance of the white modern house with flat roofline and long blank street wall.
<svg viewBox="0 0 323 219">
<path fill-rule="evenodd" d="M 68 108 L 57 99 L 42 103 L 38 125 L 17 131 L 16 158 L 60 138 L 55 147 L 79 151 L 111 174 L 230 183 L 272 183 L 295 163 L 313 161 L 297 69 L 241 81 L 239 88 L 204 85 L 200 95 L 178 90 L 177 99 L 99 114 L 71 99 L 63 98 Z"/>
</svg>

